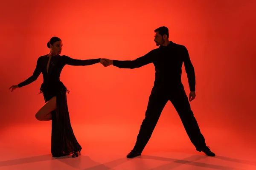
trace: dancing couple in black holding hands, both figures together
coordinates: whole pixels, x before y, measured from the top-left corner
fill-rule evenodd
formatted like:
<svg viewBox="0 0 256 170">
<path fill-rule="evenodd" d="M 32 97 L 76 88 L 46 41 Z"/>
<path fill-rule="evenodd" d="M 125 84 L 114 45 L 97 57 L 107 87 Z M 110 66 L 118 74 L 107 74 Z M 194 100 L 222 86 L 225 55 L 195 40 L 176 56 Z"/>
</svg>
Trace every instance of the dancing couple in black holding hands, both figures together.
<svg viewBox="0 0 256 170">
<path fill-rule="evenodd" d="M 66 93 L 69 93 L 69 91 L 60 81 L 61 71 L 65 65 L 85 66 L 99 62 L 105 67 L 113 65 L 118 68 L 130 69 L 140 68 L 149 63 L 153 63 L 155 66 L 154 87 L 149 96 L 145 119 L 140 126 L 136 144 L 126 156 L 127 158 L 141 155 L 153 133 L 163 108 L 169 100 L 179 114 L 186 133 L 196 150 L 204 152 L 207 156 L 215 156 L 215 153 L 207 147 L 204 136 L 201 134 L 198 123 L 190 108 L 189 102 L 195 99 L 195 71 L 189 58 L 188 50 L 183 45 L 169 41 L 169 30 L 167 27 L 159 27 L 154 32 L 154 42 L 159 47 L 151 50 L 142 57 L 126 61 L 105 58 L 81 60 L 65 55 L 61 56 L 62 41 L 58 37 L 52 37 L 47 43 L 47 47 L 50 48 L 49 54 L 38 58 L 32 76 L 9 88 L 14 91 L 16 88 L 29 85 L 41 73 L 43 74 L 44 81 L 41 85 L 40 93 L 44 96 L 45 105 L 39 109 L 35 117 L 40 121 L 52 120 L 52 157 L 71 154 L 72 157 L 78 157 L 82 149 L 76 140 L 70 124 L 66 96 Z M 189 97 L 186 95 L 181 82 L 181 68 L 183 63 L 189 81 Z"/>
</svg>

